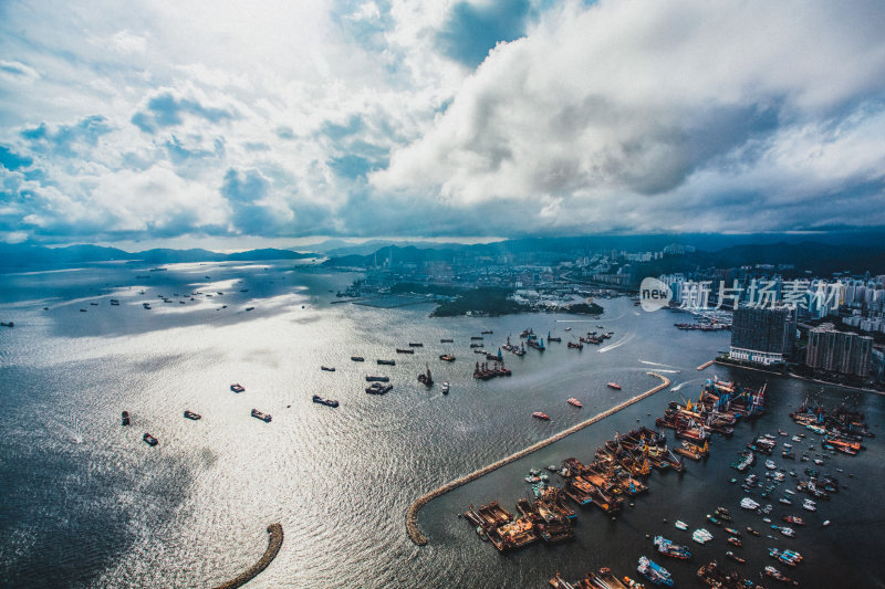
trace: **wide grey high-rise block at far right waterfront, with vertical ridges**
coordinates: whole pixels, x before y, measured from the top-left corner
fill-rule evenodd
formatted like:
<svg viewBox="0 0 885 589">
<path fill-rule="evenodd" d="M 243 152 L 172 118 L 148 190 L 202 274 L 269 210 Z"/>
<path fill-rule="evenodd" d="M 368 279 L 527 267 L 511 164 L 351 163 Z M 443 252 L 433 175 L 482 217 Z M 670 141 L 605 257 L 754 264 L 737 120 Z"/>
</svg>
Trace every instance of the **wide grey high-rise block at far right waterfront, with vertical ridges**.
<svg viewBox="0 0 885 589">
<path fill-rule="evenodd" d="M 873 338 L 851 332 L 837 332 L 832 323 L 809 330 L 805 366 L 816 370 L 870 376 L 873 360 Z"/>
</svg>

